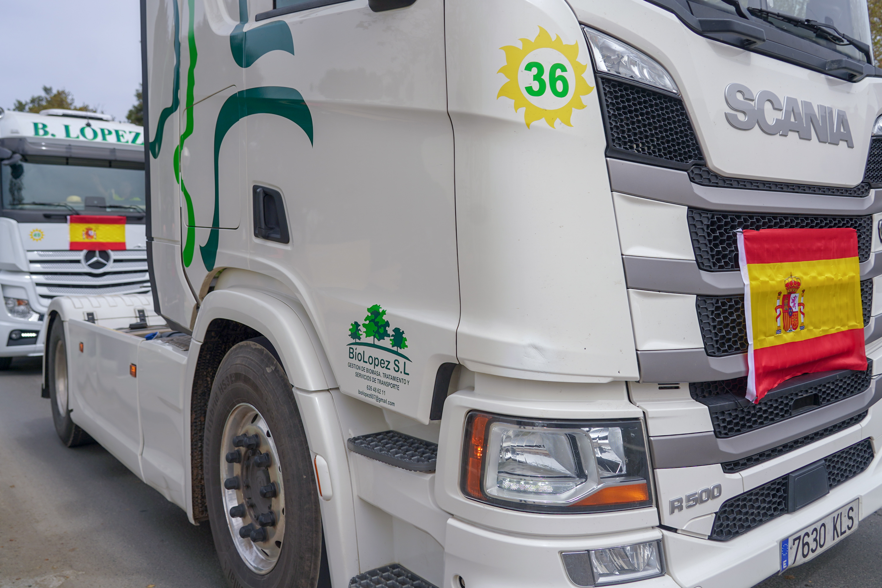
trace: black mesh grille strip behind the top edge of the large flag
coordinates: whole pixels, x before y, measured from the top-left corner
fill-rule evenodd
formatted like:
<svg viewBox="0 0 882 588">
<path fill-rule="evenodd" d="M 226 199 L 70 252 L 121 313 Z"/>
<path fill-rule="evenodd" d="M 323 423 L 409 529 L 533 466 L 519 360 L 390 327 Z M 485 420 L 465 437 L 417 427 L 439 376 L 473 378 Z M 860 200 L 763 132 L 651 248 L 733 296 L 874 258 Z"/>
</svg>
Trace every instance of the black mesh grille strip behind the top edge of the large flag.
<svg viewBox="0 0 882 588">
<path fill-rule="evenodd" d="M 854 228 L 857 231 L 857 256 L 862 262 L 870 258 L 873 240 L 871 216 L 744 214 L 690 208 L 686 219 L 695 261 L 699 264 L 699 269 L 705 272 L 731 272 L 738 269 L 736 230 L 739 228 Z"/>
</svg>

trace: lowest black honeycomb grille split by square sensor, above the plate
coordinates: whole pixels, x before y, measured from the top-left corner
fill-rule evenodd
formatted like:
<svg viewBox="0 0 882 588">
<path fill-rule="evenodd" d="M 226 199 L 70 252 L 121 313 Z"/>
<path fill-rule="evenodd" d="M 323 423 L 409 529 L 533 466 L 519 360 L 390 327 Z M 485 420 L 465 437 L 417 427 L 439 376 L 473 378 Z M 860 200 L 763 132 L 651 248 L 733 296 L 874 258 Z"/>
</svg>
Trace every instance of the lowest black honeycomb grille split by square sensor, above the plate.
<svg viewBox="0 0 882 588">
<path fill-rule="evenodd" d="M 830 488 L 854 478 L 867 469 L 872 460 L 873 447 L 870 439 L 864 439 L 824 458 Z M 781 476 L 723 502 L 714 517 L 710 538 L 718 541 L 735 539 L 738 535 L 786 513 L 787 479 L 787 476 Z"/>
</svg>

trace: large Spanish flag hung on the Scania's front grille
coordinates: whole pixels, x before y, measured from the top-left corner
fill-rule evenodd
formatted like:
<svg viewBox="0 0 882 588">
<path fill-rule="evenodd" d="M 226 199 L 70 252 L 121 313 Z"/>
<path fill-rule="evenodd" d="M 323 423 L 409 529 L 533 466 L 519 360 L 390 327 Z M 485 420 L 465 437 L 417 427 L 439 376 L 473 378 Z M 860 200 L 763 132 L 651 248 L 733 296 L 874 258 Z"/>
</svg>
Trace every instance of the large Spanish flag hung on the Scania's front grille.
<svg viewBox="0 0 882 588">
<path fill-rule="evenodd" d="M 747 398 L 794 376 L 866 369 L 853 228 L 738 231 L 747 319 Z"/>
</svg>

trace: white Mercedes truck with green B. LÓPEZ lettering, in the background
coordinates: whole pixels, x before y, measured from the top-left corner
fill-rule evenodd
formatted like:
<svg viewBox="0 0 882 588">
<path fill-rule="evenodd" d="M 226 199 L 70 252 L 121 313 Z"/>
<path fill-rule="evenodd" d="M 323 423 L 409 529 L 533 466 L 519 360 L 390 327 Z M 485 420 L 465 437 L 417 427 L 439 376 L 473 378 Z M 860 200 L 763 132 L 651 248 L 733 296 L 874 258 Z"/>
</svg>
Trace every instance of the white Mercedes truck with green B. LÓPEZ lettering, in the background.
<svg viewBox="0 0 882 588">
<path fill-rule="evenodd" d="M 0 108 L 0 370 L 43 353 L 56 296 L 150 292 L 144 153 L 144 130 L 109 115 Z M 77 215 L 124 217 L 125 247 L 74 249 Z"/>
</svg>

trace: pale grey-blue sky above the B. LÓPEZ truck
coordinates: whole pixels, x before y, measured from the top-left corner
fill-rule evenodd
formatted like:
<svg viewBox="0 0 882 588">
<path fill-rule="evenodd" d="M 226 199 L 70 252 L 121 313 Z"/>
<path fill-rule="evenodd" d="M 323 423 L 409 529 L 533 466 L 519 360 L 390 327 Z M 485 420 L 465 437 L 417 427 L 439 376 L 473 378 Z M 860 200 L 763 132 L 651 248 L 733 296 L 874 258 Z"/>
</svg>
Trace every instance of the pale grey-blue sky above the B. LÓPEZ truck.
<svg viewBox="0 0 882 588">
<path fill-rule="evenodd" d="M 0 0 L 0 107 L 64 88 L 125 120 L 141 82 L 138 0 Z"/>
</svg>

